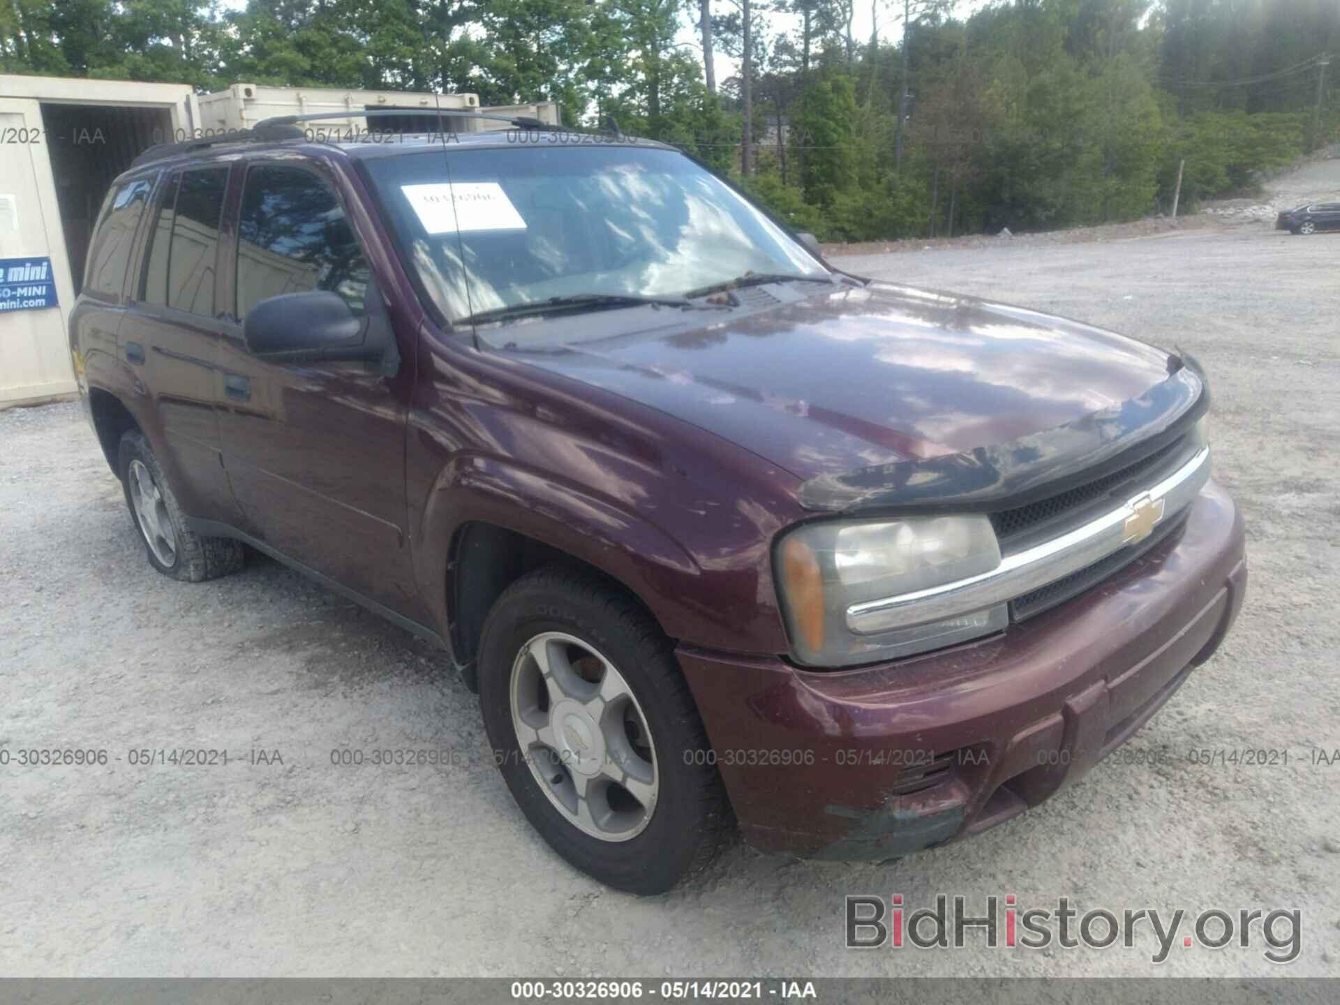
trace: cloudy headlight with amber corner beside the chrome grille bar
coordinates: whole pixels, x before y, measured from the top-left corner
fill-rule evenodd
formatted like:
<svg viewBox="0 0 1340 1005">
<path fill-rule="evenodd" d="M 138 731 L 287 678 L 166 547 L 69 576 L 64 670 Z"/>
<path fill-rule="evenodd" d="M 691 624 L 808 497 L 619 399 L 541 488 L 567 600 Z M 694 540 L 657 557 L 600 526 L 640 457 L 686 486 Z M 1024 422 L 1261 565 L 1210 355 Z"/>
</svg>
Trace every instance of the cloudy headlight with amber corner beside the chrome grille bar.
<svg viewBox="0 0 1340 1005">
<path fill-rule="evenodd" d="M 781 539 L 776 555 L 779 592 L 795 655 L 811 666 L 850 666 L 998 631 L 1009 620 L 1005 604 L 870 635 L 848 627 L 847 608 L 990 572 L 1000 561 L 1000 544 L 985 516 L 800 527 Z"/>
</svg>

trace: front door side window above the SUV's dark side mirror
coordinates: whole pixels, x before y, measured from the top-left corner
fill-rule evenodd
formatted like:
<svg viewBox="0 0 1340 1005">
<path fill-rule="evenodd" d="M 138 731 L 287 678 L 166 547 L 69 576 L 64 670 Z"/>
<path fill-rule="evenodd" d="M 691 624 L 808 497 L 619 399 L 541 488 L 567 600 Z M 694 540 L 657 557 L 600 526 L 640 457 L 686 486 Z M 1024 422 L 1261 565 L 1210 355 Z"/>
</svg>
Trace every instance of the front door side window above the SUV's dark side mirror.
<svg viewBox="0 0 1340 1005">
<path fill-rule="evenodd" d="M 237 221 L 237 316 L 280 293 L 330 289 L 363 315 L 367 260 L 335 192 L 302 168 L 247 170 Z"/>
</svg>

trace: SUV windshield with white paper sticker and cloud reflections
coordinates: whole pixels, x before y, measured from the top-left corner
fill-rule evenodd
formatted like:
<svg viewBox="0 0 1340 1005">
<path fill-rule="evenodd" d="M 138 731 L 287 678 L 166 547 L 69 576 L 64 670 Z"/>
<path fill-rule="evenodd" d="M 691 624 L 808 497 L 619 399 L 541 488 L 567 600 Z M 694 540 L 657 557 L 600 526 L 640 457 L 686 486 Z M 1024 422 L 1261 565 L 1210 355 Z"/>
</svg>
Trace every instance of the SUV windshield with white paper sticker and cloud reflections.
<svg viewBox="0 0 1340 1005">
<path fill-rule="evenodd" d="M 673 150 L 448 149 L 367 161 L 406 264 L 452 322 L 584 295 L 679 297 L 829 273 Z"/>
</svg>

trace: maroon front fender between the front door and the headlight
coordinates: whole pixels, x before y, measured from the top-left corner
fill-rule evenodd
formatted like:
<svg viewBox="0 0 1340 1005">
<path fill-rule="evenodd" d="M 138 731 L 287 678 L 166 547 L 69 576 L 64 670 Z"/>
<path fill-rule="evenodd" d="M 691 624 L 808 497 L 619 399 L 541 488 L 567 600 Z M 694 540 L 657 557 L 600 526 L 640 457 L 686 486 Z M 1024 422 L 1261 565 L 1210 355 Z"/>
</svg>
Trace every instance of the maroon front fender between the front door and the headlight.
<svg viewBox="0 0 1340 1005">
<path fill-rule="evenodd" d="M 705 429 L 611 390 L 481 352 L 425 326 L 406 430 L 415 578 L 452 638 L 458 531 L 490 524 L 636 595 L 674 639 L 789 649 L 770 547 L 799 484 Z"/>
</svg>

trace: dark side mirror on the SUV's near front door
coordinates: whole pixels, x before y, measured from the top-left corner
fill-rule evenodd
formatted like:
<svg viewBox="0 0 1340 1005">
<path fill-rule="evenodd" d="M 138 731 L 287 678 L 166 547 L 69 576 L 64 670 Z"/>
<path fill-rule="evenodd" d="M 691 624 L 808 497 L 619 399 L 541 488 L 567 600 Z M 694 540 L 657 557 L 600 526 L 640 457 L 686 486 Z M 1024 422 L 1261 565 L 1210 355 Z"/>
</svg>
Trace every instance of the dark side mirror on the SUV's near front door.
<svg viewBox="0 0 1340 1005">
<path fill-rule="evenodd" d="M 328 289 L 261 300 L 243 322 L 243 336 L 253 356 L 291 363 L 383 359 L 395 346 L 389 324 L 354 316 L 343 297 Z"/>
</svg>

